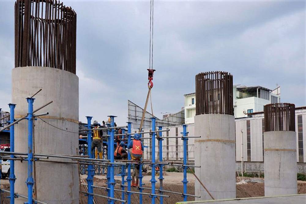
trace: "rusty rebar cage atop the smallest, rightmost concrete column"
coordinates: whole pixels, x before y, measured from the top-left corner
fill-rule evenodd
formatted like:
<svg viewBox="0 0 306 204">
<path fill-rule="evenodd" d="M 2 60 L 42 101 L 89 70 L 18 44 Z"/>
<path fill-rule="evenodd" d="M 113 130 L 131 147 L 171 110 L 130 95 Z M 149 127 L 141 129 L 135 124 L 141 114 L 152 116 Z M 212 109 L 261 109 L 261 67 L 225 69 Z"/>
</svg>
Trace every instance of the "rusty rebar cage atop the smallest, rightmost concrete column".
<svg viewBox="0 0 306 204">
<path fill-rule="evenodd" d="M 295 131 L 295 105 L 292 103 L 272 103 L 263 106 L 265 132 Z"/>
</svg>

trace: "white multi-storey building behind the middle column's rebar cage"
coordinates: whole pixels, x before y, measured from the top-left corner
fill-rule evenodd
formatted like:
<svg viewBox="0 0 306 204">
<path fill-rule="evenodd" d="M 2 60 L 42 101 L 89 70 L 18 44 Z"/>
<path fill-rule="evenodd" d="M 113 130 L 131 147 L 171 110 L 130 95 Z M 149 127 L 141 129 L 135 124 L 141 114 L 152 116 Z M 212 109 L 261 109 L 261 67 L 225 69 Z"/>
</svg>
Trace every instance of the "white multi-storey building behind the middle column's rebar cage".
<svg viewBox="0 0 306 204">
<path fill-rule="evenodd" d="M 196 93 L 185 94 L 185 124 L 194 123 L 196 115 Z M 263 111 L 263 106 L 280 102 L 280 87 L 273 91 L 260 86 L 233 86 L 235 118 L 247 117 L 249 113 Z"/>
</svg>

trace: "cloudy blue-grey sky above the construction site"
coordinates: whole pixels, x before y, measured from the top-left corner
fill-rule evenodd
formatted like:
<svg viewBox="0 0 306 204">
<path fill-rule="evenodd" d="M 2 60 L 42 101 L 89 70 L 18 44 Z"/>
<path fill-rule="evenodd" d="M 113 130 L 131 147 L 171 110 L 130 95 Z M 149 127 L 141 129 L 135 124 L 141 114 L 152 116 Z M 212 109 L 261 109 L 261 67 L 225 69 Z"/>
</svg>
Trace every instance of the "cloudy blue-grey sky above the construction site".
<svg viewBox="0 0 306 204">
<path fill-rule="evenodd" d="M 80 120 L 127 121 L 127 100 L 144 106 L 150 1 L 64 0 L 77 13 Z M 14 1 L 0 1 L 0 107 L 11 100 Z M 281 86 L 281 101 L 306 106 L 305 1 L 154 2 L 153 111 L 177 112 L 195 75 L 228 71 L 234 84 Z"/>
</svg>

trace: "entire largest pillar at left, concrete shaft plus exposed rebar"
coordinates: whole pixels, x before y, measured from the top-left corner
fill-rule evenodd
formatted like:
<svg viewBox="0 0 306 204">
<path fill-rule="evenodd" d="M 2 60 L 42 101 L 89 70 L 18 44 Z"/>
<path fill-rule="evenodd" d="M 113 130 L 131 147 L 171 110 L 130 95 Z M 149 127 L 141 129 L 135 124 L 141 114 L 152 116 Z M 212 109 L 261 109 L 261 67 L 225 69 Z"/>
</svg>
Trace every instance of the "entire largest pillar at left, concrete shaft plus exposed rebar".
<svg viewBox="0 0 306 204">
<path fill-rule="evenodd" d="M 38 5 L 39 4 L 39 5 Z M 46 8 L 48 15 L 46 14 Z M 32 10 L 34 9 L 34 11 Z M 35 9 L 38 9 L 37 11 Z M 52 13 L 52 15 L 51 15 Z M 32 17 L 34 15 L 34 17 Z M 57 18 L 61 19 L 57 19 Z M 23 19 L 23 20 L 21 20 Z M 41 21 L 41 19 L 43 19 Z M 15 117 L 27 114 L 27 97 L 35 94 L 34 154 L 78 155 L 79 79 L 76 76 L 76 13 L 58 1 L 15 3 L 15 68 L 12 70 L 12 102 Z M 43 25 L 43 26 L 42 26 Z M 15 125 L 15 151 L 28 152 L 28 121 Z M 79 203 L 77 164 L 49 158 L 35 161 L 33 197 L 49 204 Z M 65 163 L 69 161 L 70 163 Z M 15 192 L 28 195 L 28 162 L 15 162 Z M 17 204 L 27 200 L 15 198 Z"/>
</svg>

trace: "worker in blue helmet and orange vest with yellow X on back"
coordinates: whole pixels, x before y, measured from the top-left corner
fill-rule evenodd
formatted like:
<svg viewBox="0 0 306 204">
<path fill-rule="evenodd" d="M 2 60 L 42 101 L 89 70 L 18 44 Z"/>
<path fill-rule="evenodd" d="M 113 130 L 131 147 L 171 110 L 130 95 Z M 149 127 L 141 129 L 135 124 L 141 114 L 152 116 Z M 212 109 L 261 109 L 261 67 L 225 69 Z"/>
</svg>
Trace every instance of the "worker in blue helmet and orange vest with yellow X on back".
<svg viewBox="0 0 306 204">
<path fill-rule="evenodd" d="M 142 158 L 142 153 L 144 151 L 144 145 L 140 141 L 140 135 L 136 133 L 134 135 L 134 139 L 128 144 L 129 153 L 131 154 L 132 160 L 140 161 Z M 137 187 L 138 186 L 138 175 L 139 175 L 139 164 L 136 165 L 134 172 L 132 174 L 132 184 L 131 186 Z M 136 182 L 135 182 L 136 176 Z"/>
</svg>

